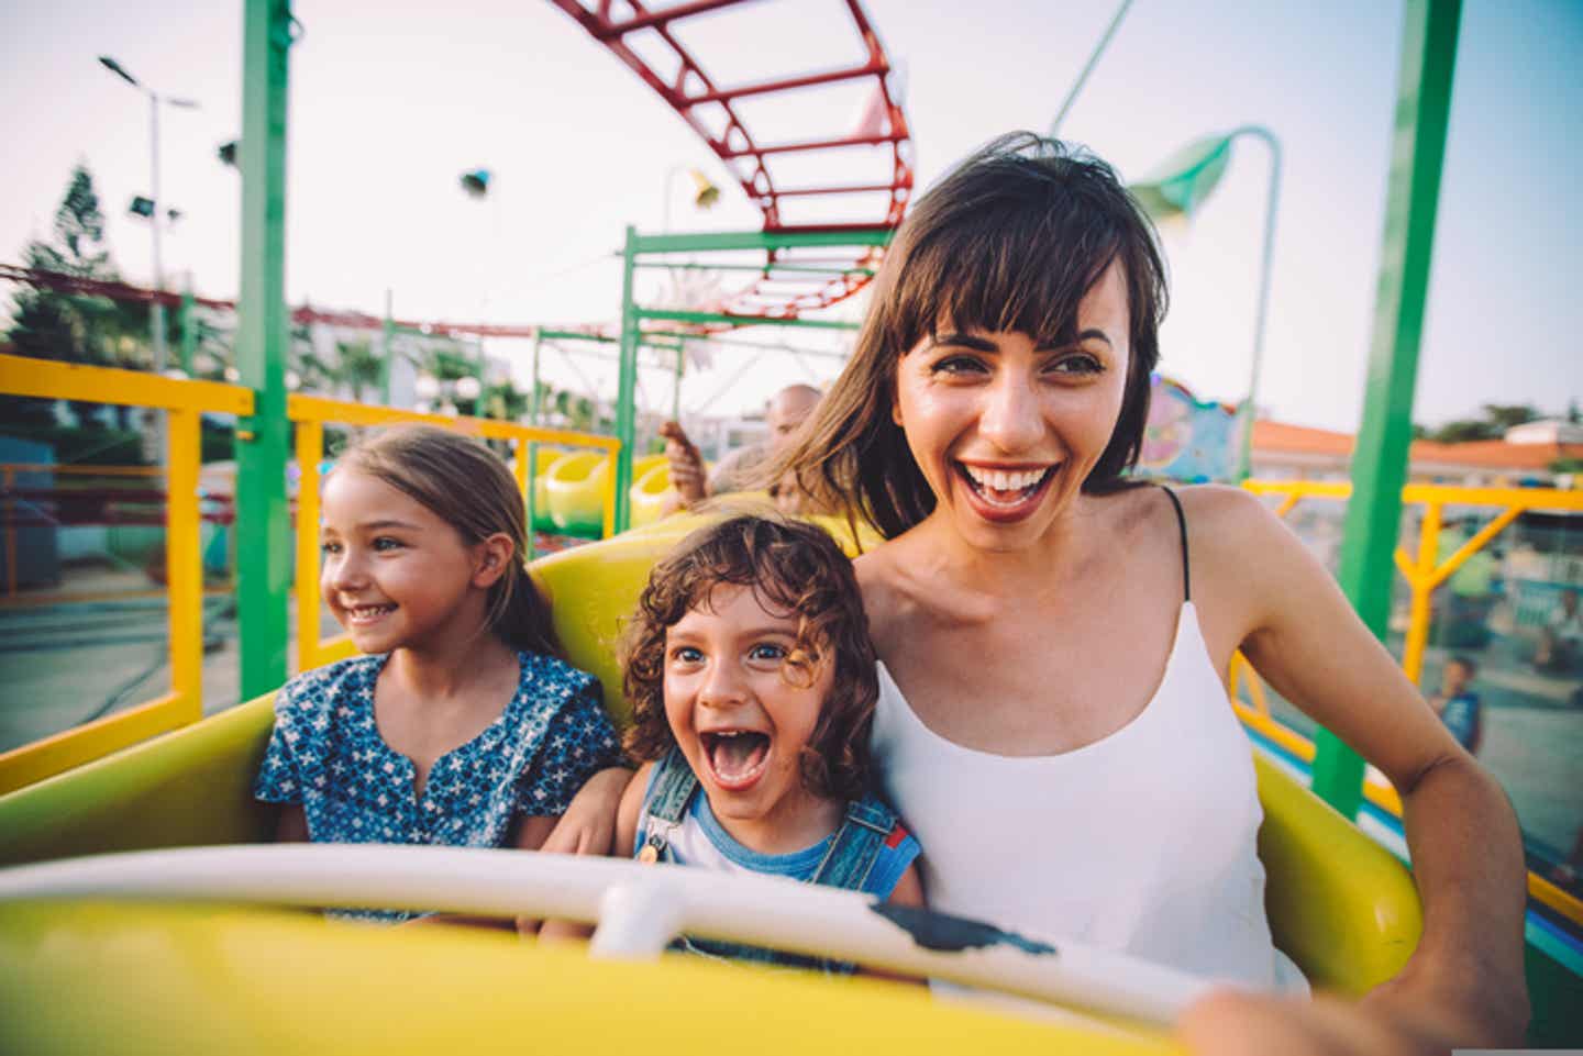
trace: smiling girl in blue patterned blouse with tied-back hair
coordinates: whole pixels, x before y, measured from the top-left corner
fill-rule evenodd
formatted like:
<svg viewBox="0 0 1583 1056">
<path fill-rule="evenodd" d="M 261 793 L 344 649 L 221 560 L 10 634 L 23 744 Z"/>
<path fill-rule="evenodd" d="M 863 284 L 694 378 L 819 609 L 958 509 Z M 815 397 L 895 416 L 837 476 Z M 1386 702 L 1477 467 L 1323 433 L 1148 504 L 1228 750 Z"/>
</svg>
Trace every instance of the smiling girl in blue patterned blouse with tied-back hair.
<svg viewBox="0 0 1583 1056">
<path fill-rule="evenodd" d="M 321 510 L 320 591 L 364 655 L 275 697 L 255 795 L 282 804 L 277 838 L 538 849 L 621 744 L 598 682 L 556 655 L 516 480 L 397 426 L 339 461 Z"/>
</svg>

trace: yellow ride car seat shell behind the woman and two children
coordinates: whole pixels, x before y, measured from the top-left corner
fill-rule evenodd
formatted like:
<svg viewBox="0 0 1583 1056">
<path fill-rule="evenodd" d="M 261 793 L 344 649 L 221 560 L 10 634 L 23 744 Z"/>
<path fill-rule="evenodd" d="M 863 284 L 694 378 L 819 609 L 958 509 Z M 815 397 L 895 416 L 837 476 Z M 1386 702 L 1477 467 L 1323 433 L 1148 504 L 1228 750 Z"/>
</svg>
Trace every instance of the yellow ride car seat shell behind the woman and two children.
<svg viewBox="0 0 1583 1056">
<path fill-rule="evenodd" d="M 829 521 L 842 538 L 845 522 Z M 630 717 L 616 660 L 624 621 L 654 560 L 701 522 L 668 518 L 533 565 L 567 659 L 598 678 L 617 724 Z M 850 551 L 856 540 L 845 534 L 842 543 Z M 253 801 L 252 782 L 272 720 L 272 697 L 261 697 L 0 796 L 0 864 L 268 839 L 271 811 Z M 1390 978 L 1422 933 L 1407 869 L 1289 776 L 1255 762 L 1276 944 L 1315 988 L 1357 994 Z"/>
</svg>

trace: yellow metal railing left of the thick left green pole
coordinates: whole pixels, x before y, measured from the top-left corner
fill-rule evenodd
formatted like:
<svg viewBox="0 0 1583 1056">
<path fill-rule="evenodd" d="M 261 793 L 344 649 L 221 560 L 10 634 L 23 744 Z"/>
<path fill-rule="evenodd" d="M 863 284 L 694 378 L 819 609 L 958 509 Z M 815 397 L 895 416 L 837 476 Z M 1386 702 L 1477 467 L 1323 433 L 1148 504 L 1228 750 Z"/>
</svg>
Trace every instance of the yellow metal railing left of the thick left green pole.
<svg viewBox="0 0 1583 1056">
<path fill-rule="evenodd" d="M 203 565 L 198 551 L 199 416 L 252 415 L 253 393 L 141 370 L 0 355 L 0 388 L 16 396 L 154 407 L 166 412 L 165 567 L 171 692 L 0 754 L 0 793 L 108 755 L 203 716 Z M 55 467 L 59 469 L 59 467 Z"/>
</svg>

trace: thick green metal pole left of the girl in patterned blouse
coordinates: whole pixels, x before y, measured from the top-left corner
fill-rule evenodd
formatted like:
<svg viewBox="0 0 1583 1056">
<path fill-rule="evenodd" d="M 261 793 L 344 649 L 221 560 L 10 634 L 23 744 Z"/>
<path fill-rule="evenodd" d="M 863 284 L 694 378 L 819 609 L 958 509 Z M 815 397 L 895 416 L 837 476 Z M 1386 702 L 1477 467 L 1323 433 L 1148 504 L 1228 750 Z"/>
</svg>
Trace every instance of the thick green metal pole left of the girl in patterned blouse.
<svg viewBox="0 0 1583 1056">
<path fill-rule="evenodd" d="M 287 592 L 291 524 L 287 510 L 287 55 L 285 0 L 245 0 L 242 22 L 242 287 L 236 358 L 253 389 L 253 416 L 237 423 L 236 602 L 242 700 L 287 681 Z M 318 619 L 318 613 L 301 613 Z"/>
</svg>

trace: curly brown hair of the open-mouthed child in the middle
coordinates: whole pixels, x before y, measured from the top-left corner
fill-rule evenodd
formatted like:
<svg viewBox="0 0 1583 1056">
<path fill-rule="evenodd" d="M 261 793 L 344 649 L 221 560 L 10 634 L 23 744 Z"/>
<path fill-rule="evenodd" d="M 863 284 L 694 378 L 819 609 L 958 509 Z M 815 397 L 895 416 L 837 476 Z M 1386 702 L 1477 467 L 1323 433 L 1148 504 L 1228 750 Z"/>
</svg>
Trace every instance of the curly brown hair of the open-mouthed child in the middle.
<svg viewBox="0 0 1583 1056">
<path fill-rule="evenodd" d="M 852 560 L 823 529 L 803 521 L 731 516 L 695 530 L 654 567 L 622 643 L 633 717 L 627 750 L 654 762 L 676 744 L 665 719 L 665 633 L 727 584 L 752 587 L 765 608 L 796 616 L 796 646 L 782 678 L 812 681 L 820 665 L 834 662 L 829 695 L 803 746 L 803 787 L 825 800 L 860 798 L 869 785 L 869 724 L 879 698 L 869 621 Z"/>
</svg>

